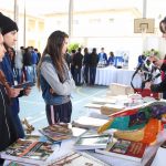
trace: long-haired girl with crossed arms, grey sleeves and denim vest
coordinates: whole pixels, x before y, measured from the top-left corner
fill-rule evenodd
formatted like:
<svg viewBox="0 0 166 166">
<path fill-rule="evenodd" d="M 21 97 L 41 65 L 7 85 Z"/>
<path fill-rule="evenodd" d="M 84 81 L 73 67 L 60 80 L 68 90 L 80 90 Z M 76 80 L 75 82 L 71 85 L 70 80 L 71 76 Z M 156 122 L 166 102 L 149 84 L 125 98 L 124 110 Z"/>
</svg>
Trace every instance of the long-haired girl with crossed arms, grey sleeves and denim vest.
<svg viewBox="0 0 166 166">
<path fill-rule="evenodd" d="M 42 90 L 50 125 L 71 122 L 71 93 L 75 84 L 64 60 L 68 43 L 65 32 L 51 33 L 38 65 L 38 87 Z"/>
</svg>

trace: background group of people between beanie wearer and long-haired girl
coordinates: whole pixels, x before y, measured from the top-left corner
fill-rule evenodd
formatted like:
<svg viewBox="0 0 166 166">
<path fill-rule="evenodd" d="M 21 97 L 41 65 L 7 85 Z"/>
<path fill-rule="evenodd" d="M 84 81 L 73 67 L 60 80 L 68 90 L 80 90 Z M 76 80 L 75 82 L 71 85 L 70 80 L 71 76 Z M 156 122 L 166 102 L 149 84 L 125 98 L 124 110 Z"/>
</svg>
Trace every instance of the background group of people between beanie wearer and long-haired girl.
<svg viewBox="0 0 166 166">
<path fill-rule="evenodd" d="M 41 53 L 33 46 L 20 46 L 20 50 L 8 49 L 11 60 L 14 80 L 18 84 L 24 81 L 37 82 L 37 65 L 40 61 Z"/>
</svg>

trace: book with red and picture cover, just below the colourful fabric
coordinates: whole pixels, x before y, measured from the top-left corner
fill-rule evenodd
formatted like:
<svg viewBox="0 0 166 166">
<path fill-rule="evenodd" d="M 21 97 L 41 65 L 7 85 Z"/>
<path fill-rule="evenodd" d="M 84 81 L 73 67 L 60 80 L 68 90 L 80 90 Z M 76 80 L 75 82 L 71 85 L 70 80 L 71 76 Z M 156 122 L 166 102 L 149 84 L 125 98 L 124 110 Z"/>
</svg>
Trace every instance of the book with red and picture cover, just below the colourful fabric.
<svg viewBox="0 0 166 166">
<path fill-rule="evenodd" d="M 147 144 L 126 139 L 111 142 L 105 149 L 95 149 L 96 153 L 121 157 L 124 159 L 142 162 Z"/>
</svg>

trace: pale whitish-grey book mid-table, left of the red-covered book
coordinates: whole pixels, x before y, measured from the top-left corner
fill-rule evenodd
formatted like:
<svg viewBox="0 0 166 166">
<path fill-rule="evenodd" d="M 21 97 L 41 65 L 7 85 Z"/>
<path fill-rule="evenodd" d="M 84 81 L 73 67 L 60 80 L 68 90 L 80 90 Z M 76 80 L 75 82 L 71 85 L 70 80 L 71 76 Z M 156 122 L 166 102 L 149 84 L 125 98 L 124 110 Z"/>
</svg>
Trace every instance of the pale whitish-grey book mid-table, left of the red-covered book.
<svg viewBox="0 0 166 166">
<path fill-rule="evenodd" d="M 106 148 L 110 135 L 98 135 L 96 131 L 90 129 L 82 134 L 74 144 L 75 149 Z"/>
</svg>

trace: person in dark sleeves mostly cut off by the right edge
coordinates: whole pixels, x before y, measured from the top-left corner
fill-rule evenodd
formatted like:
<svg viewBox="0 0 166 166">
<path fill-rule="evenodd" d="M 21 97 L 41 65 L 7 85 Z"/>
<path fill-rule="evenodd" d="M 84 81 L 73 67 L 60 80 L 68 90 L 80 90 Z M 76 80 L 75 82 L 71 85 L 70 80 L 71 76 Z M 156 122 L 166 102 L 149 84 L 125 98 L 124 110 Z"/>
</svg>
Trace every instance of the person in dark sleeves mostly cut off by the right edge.
<svg viewBox="0 0 166 166">
<path fill-rule="evenodd" d="M 166 18 L 164 18 L 159 22 L 159 29 L 163 33 L 163 38 L 166 38 Z M 148 60 L 154 63 L 157 68 L 159 68 L 163 72 L 166 72 L 166 60 L 159 60 L 156 55 L 151 55 Z M 147 82 L 145 84 L 146 89 L 149 89 L 152 92 L 155 93 L 163 93 L 166 92 L 166 76 L 163 77 L 163 81 L 158 84 L 154 84 L 153 82 Z"/>
</svg>

